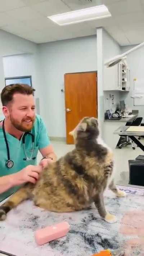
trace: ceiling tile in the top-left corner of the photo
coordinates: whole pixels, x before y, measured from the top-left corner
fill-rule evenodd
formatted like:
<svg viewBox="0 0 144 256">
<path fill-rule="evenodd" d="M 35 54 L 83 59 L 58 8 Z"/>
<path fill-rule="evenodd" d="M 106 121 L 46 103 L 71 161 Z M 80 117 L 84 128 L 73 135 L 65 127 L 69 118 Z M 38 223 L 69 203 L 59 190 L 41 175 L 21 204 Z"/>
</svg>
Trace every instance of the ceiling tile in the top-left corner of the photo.
<svg viewBox="0 0 144 256">
<path fill-rule="evenodd" d="M 25 6 L 21 0 L 1 0 L 0 1 L 0 12 L 5 12 Z"/>
</svg>

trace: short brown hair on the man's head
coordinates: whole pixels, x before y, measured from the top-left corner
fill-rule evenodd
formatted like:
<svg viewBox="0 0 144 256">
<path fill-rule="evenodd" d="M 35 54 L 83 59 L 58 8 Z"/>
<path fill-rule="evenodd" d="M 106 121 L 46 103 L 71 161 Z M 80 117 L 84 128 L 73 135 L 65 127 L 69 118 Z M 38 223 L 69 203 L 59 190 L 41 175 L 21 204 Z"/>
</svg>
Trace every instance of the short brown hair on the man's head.
<svg viewBox="0 0 144 256">
<path fill-rule="evenodd" d="M 21 93 L 25 95 L 34 95 L 35 89 L 27 84 L 10 84 L 6 85 L 1 91 L 0 97 L 3 106 L 6 106 L 9 102 L 12 102 L 13 95 L 15 93 Z"/>
</svg>

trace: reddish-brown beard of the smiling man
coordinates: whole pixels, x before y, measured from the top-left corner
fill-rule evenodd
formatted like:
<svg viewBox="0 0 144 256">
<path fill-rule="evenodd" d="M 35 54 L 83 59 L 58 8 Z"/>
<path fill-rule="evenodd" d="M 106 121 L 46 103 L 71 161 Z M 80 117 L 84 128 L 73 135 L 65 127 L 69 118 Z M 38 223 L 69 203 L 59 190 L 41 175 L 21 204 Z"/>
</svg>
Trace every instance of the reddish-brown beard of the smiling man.
<svg viewBox="0 0 144 256">
<path fill-rule="evenodd" d="M 10 121 L 12 123 L 12 125 L 19 131 L 24 131 L 24 132 L 29 132 L 31 131 L 33 124 L 35 122 L 35 117 L 33 118 L 27 118 L 27 120 L 31 120 L 31 122 L 25 122 L 26 120 L 22 120 L 21 122 L 19 122 L 17 119 L 14 119 L 12 117 L 12 115 L 10 115 Z"/>
</svg>

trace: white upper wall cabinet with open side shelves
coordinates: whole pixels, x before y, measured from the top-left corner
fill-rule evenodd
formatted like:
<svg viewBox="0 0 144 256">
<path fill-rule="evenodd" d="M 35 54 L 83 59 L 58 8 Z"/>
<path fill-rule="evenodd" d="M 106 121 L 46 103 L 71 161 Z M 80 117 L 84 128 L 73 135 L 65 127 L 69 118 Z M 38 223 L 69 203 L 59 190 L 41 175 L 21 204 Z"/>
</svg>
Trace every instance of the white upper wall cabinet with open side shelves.
<svg viewBox="0 0 144 256">
<path fill-rule="evenodd" d="M 104 90 L 130 90 L 130 69 L 122 62 L 113 67 L 104 66 Z"/>
</svg>

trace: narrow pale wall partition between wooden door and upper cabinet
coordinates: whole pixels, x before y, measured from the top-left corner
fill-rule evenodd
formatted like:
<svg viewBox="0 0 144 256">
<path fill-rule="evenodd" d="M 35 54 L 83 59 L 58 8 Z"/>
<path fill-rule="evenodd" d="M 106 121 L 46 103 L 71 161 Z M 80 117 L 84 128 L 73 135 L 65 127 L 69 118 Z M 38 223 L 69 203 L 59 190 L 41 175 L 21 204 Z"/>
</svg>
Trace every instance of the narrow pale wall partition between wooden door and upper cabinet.
<svg viewBox="0 0 144 256">
<path fill-rule="evenodd" d="M 104 111 L 108 107 L 107 98 L 109 98 L 109 92 L 103 91 L 103 81 L 104 81 L 104 62 L 114 57 L 117 54 L 120 54 L 120 46 L 114 39 L 103 29 L 98 28 L 97 29 L 97 41 L 98 41 L 98 47 L 97 51 L 101 54 L 98 58 L 98 87 L 99 87 L 99 106 L 100 106 L 100 127 L 101 127 L 101 134 L 102 138 L 104 139 L 104 142 L 107 143 L 110 147 L 113 147 L 111 142 L 113 141 L 113 133 L 108 133 L 107 130 L 107 123 L 104 122 Z M 101 59 L 100 59 L 101 58 Z M 100 75 L 100 79 L 99 79 Z M 108 81 L 110 82 L 110 81 Z M 110 91 L 112 94 L 112 91 Z M 115 99 L 118 100 L 119 98 L 119 92 L 113 92 L 115 95 Z M 111 103 L 109 101 L 109 107 L 111 107 Z"/>
</svg>

